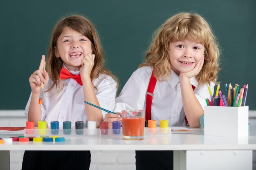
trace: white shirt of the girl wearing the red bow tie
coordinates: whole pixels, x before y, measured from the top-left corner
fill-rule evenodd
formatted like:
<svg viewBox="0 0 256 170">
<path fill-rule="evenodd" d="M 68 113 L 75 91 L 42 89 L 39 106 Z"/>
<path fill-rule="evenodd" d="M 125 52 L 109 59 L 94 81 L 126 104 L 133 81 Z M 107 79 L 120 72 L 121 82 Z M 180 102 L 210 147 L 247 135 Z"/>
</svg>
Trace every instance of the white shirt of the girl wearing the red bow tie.
<svg viewBox="0 0 256 170">
<path fill-rule="evenodd" d="M 71 74 L 77 75 L 79 71 L 70 71 Z M 58 93 L 56 88 L 52 88 L 50 91 L 43 93 L 42 104 L 42 121 L 47 121 L 47 126 L 50 127 L 51 121 L 59 121 L 60 128 L 63 127 L 63 121 L 71 121 L 72 127 L 75 127 L 76 121 L 83 121 L 84 126 L 87 126 L 87 118 L 85 111 L 85 103 L 83 97 L 83 86 L 78 84 L 76 80 L 63 79 L 64 88 Z M 94 86 L 98 88 L 98 91 L 94 89 L 96 97 L 99 101 L 99 105 L 102 108 L 112 111 L 115 106 L 115 97 L 117 91 L 117 83 L 109 75 L 99 74 L 99 77 L 92 81 Z M 53 81 L 49 79 L 47 89 L 52 86 Z M 86 92 L 85 92 L 86 93 Z M 52 96 L 52 94 L 54 94 Z M 25 108 L 25 115 L 28 115 L 29 104 L 31 100 L 31 94 L 27 106 Z M 102 111 L 103 118 L 107 113 Z"/>
</svg>

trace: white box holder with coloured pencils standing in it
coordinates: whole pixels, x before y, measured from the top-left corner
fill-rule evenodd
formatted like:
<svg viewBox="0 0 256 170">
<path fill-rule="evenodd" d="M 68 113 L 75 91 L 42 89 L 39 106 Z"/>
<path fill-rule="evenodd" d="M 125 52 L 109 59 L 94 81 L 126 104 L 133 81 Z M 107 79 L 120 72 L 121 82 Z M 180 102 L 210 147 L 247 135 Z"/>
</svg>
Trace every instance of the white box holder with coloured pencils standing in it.
<svg viewBox="0 0 256 170">
<path fill-rule="evenodd" d="M 248 106 L 204 106 L 204 135 L 247 137 L 248 114 Z"/>
</svg>

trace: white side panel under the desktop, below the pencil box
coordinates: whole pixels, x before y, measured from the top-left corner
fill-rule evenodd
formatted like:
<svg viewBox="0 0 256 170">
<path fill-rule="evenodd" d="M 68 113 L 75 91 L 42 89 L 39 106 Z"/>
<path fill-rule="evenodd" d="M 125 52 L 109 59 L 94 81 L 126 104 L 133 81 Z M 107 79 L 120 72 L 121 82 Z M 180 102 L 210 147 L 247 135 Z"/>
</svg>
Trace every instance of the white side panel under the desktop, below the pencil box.
<svg viewBox="0 0 256 170">
<path fill-rule="evenodd" d="M 185 164 L 186 170 L 252 170 L 252 150 L 187 150 Z"/>
</svg>

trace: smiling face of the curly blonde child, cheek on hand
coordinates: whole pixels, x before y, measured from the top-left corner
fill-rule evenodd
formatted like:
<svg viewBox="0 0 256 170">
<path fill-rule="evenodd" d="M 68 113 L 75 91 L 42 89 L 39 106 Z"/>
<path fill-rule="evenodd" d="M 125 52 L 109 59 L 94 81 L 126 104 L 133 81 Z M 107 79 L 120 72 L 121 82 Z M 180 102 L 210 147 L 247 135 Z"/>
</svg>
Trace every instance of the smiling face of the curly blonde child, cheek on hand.
<svg viewBox="0 0 256 170">
<path fill-rule="evenodd" d="M 204 45 L 200 42 L 183 40 L 169 45 L 171 69 L 177 74 L 187 73 L 204 57 Z"/>
</svg>

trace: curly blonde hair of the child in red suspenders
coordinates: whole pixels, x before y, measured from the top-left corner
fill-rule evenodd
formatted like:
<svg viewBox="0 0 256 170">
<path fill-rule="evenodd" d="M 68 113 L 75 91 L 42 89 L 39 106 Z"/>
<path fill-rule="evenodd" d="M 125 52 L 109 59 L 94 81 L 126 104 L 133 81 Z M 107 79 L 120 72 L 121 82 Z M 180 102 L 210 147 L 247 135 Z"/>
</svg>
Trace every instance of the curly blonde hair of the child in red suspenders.
<svg viewBox="0 0 256 170">
<path fill-rule="evenodd" d="M 204 65 L 196 76 L 198 87 L 218 78 L 220 50 L 218 40 L 207 21 L 196 13 L 178 13 L 166 20 L 153 34 L 153 40 L 145 56 L 142 66 L 154 67 L 154 76 L 158 81 L 171 74 L 169 45 L 171 42 L 189 39 L 200 41 L 204 45 Z"/>
</svg>

